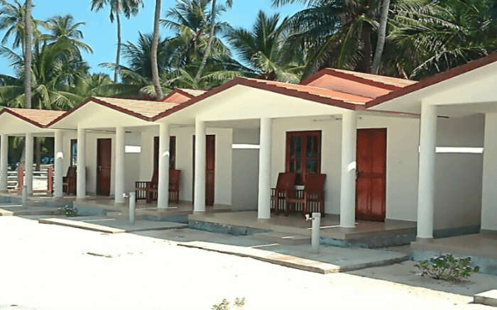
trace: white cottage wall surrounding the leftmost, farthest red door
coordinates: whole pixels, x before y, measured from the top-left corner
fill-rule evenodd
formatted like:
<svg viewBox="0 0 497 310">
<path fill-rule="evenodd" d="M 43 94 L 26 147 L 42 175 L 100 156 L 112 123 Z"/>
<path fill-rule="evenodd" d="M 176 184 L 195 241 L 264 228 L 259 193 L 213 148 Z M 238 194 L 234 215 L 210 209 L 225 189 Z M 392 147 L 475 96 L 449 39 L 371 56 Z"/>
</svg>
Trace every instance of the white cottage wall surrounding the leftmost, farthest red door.
<svg viewBox="0 0 497 310">
<path fill-rule="evenodd" d="M 62 150 L 64 153 L 64 160 L 62 164 L 63 176 L 67 174 L 67 168 L 70 165 L 71 157 L 71 140 L 77 139 L 76 131 L 65 132 L 63 135 Z M 94 195 L 97 192 L 97 140 L 101 138 L 110 138 L 111 142 L 111 195 L 114 194 L 114 178 L 115 178 L 115 164 L 116 164 L 116 150 L 115 150 L 115 135 L 112 133 L 92 133 L 87 132 L 87 152 L 86 152 L 86 162 L 87 162 L 87 194 Z M 139 133 L 126 133 L 125 135 L 126 145 L 140 145 L 140 135 Z M 139 175 L 139 160 L 140 154 L 129 154 L 126 153 L 124 156 L 125 160 L 125 189 L 126 192 L 131 192 L 135 188 L 136 176 Z"/>
</svg>

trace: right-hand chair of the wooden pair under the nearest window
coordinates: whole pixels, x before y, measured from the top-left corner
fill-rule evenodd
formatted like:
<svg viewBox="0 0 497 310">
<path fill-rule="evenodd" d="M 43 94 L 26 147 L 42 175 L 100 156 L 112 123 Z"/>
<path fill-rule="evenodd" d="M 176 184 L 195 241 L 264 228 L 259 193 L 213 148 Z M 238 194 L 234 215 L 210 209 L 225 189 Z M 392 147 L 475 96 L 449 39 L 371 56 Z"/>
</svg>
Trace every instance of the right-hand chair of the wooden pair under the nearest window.
<svg viewBox="0 0 497 310">
<path fill-rule="evenodd" d="M 287 199 L 287 204 L 292 205 L 295 209 L 295 204 L 302 206 L 302 214 L 309 214 L 312 211 L 321 213 L 324 217 L 324 180 L 326 175 L 310 173 L 305 176 L 305 184 L 303 193 L 300 195 L 293 195 Z M 289 209 L 285 206 L 285 215 L 288 216 Z"/>
</svg>

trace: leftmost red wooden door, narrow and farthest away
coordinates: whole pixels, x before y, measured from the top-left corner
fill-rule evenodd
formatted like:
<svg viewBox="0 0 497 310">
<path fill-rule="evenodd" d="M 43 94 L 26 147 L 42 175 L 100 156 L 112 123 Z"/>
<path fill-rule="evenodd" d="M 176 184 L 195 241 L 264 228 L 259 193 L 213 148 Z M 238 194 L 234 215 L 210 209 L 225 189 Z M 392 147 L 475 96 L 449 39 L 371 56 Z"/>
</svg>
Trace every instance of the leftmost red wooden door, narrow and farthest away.
<svg viewBox="0 0 497 310">
<path fill-rule="evenodd" d="M 97 194 L 111 194 L 111 139 L 97 140 Z"/>
</svg>

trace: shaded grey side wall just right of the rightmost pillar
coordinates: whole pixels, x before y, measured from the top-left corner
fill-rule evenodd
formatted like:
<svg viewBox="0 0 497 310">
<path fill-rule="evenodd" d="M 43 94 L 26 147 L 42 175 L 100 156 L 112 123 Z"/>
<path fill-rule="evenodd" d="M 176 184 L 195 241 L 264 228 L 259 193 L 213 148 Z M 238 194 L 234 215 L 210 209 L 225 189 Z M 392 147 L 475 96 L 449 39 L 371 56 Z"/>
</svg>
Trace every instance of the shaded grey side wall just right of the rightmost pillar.
<svg viewBox="0 0 497 310">
<path fill-rule="evenodd" d="M 437 146 L 484 147 L 484 115 L 438 118 Z M 478 226 L 481 221 L 483 155 L 437 153 L 434 228 Z"/>
</svg>

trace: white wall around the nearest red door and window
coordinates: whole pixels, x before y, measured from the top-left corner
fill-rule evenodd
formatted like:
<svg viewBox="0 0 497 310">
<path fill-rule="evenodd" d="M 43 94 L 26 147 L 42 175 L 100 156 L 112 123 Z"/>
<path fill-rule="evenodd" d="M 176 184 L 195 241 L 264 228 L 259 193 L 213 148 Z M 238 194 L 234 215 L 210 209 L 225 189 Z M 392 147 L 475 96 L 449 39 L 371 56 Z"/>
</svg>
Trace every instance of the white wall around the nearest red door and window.
<svg viewBox="0 0 497 310">
<path fill-rule="evenodd" d="M 339 214 L 342 121 L 332 118 L 281 118 L 273 122 L 273 185 L 285 171 L 287 131 L 322 131 L 321 172 L 326 174 L 325 212 Z M 360 116 L 358 128 L 387 128 L 386 217 L 415 221 L 417 195 L 417 143 L 419 120 Z M 394 148 L 393 145 L 402 145 Z"/>
</svg>

